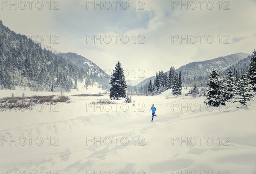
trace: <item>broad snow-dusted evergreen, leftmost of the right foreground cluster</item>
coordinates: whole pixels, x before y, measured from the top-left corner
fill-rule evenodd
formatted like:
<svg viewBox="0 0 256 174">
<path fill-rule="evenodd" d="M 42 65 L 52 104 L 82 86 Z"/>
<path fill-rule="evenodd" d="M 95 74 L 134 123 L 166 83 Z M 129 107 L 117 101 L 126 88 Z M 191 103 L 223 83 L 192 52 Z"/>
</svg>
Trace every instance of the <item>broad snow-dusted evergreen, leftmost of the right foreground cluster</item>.
<svg viewBox="0 0 256 174">
<path fill-rule="evenodd" d="M 212 70 L 207 85 L 209 88 L 204 103 L 213 107 L 225 105 L 227 99 L 224 97 L 224 81 L 219 77 L 217 70 Z"/>
</svg>

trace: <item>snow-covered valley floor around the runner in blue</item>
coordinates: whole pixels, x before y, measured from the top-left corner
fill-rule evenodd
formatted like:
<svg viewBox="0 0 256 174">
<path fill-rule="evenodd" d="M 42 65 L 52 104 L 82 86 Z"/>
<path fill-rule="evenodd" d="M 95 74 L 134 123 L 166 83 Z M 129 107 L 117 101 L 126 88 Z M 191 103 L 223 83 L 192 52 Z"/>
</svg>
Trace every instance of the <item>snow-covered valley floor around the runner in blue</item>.
<svg viewBox="0 0 256 174">
<path fill-rule="evenodd" d="M 204 97 L 175 98 L 167 90 L 132 96 L 134 107 L 124 99 L 90 104 L 104 98 L 70 96 L 70 104 L 0 112 L 1 173 L 256 173 L 256 98 L 248 107 L 230 103 L 212 110 Z M 153 122 L 151 104 L 157 108 Z"/>
</svg>

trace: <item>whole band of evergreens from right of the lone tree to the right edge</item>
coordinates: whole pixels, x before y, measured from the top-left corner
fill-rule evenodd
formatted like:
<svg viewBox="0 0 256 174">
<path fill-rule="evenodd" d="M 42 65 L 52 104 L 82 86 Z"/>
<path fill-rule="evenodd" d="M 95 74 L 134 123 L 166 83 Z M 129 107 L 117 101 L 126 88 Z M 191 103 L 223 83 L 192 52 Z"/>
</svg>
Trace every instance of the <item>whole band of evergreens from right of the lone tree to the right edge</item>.
<svg viewBox="0 0 256 174">
<path fill-rule="evenodd" d="M 190 94 L 193 98 L 196 98 L 197 95 L 199 97 L 202 95 L 207 96 L 206 104 L 212 106 L 225 104 L 231 99 L 236 99 L 236 102 L 239 101 L 241 104 L 246 104 L 254 96 L 252 91 L 256 91 L 255 54 L 255 51 L 253 51 L 253 55 L 242 59 L 237 64 L 231 66 L 229 70 L 217 73 L 217 70 L 214 69 L 208 75 L 206 74 L 208 72 L 205 72 L 205 74 L 202 73 L 202 75 L 193 78 L 187 74 L 185 77 L 182 76 L 180 71 L 178 75 L 175 68 L 171 67 L 169 72 L 163 73 L 163 71 L 159 71 L 156 73 L 154 81 L 150 80 L 141 87 L 128 85 L 128 92 L 158 95 L 165 90 L 172 89 L 174 95 L 180 95 L 181 87 L 186 87 L 186 89 L 192 87 L 185 95 Z M 208 90 L 206 87 L 209 87 Z M 218 97 L 213 99 L 214 96 Z"/>
</svg>

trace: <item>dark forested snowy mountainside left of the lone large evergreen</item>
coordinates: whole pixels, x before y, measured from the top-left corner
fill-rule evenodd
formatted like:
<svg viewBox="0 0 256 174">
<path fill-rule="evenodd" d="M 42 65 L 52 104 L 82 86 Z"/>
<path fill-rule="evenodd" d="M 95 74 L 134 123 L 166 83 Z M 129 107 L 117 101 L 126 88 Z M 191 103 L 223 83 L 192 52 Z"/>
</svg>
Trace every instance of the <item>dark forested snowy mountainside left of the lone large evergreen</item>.
<svg viewBox="0 0 256 174">
<path fill-rule="evenodd" d="M 109 89 L 110 77 L 90 60 L 42 47 L 0 21 L 0 89 L 20 86 L 33 91 L 70 91 L 77 89 L 77 82 Z"/>
</svg>

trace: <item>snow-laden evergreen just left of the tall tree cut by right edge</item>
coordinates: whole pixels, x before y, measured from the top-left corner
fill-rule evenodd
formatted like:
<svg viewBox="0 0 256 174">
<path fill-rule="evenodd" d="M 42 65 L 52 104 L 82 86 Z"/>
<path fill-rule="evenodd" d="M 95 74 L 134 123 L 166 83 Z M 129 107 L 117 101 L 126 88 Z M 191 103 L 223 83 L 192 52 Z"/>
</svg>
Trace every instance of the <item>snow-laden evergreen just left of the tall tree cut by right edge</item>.
<svg viewBox="0 0 256 174">
<path fill-rule="evenodd" d="M 253 100 L 253 96 L 255 96 L 253 85 L 249 83 L 249 79 L 247 79 L 246 75 L 241 76 L 241 79 L 237 83 L 236 97 L 234 102 L 239 102 L 242 105 L 246 105 L 247 101 Z"/>
</svg>

